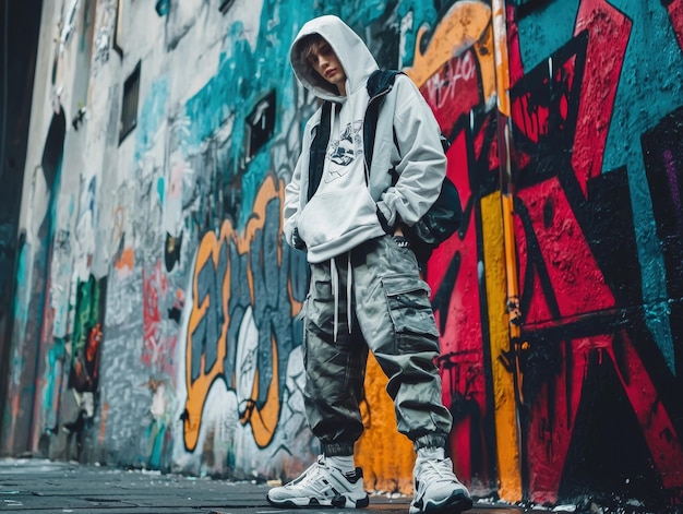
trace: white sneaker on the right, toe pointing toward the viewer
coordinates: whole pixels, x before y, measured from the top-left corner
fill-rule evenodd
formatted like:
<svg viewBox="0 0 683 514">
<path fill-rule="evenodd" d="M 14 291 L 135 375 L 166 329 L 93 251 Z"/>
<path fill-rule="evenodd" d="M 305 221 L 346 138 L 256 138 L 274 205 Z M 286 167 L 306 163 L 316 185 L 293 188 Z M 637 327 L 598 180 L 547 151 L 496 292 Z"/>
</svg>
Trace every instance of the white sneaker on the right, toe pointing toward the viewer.
<svg viewBox="0 0 683 514">
<path fill-rule="evenodd" d="M 460 513 L 472 507 L 469 491 L 453 473 L 450 458 L 422 458 L 415 463 L 415 491 L 410 514 Z"/>
</svg>

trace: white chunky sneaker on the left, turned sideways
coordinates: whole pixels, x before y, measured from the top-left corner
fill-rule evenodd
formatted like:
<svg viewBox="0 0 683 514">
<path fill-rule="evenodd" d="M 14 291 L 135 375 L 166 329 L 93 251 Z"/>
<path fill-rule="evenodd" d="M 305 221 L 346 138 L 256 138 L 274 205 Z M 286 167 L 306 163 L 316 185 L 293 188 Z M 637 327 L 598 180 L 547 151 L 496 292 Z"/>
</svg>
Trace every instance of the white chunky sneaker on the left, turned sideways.
<svg viewBox="0 0 683 514">
<path fill-rule="evenodd" d="M 370 503 L 363 489 L 363 473 L 357 467 L 351 476 L 326 466 L 321 455 L 299 478 L 273 488 L 267 493 L 271 505 L 281 507 L 336 506 L 366 507 Z"/>
</svg>

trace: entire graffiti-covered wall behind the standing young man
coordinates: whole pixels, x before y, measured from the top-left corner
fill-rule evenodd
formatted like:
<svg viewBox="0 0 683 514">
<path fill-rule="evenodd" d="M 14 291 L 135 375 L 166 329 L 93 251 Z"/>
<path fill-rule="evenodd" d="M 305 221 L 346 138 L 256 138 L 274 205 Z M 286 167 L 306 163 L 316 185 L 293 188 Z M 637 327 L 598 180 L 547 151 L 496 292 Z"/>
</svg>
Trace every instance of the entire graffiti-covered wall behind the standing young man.
<svg viewBox="0 0 683 514">
<path fill-rule="evenodd" d="M 283 479 L 314 458 L 281 204 L 315 98 L 287 53 L 335 13 L 451 141 L 464 224 L 427 279 L 457 474 L 682 501 L 682 0 L 45 9 L 3 453 Z M 358 464 L 410 492 L 385 383 L 371 360 Z"/>
</svg>

